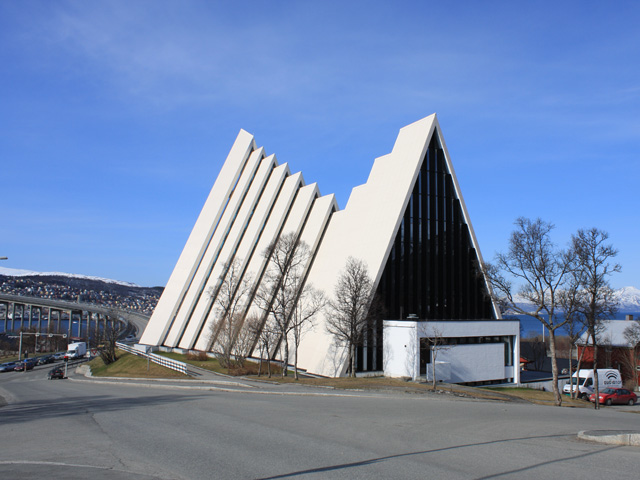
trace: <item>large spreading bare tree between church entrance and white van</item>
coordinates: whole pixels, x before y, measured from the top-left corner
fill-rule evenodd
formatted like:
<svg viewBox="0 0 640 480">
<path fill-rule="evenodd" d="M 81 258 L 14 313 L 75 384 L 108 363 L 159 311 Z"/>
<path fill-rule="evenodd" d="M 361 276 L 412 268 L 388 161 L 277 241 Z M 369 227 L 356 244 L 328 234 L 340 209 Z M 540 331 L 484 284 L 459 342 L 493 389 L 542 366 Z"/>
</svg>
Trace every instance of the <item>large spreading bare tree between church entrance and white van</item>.
<svg viewBox="0 0 640 480">
<path fill-rule="evenodd" d="M 572 250 L 558 249 L 551 241 L 554 225 L 537 219 L 520 217 L 511 233 L 507 253 L 496 255 L 495 264 L 484 265 L 493 295 L 516 314 L 531 316 L 549 331 L 551 372 L 556 405 L 562 405 L 558 388 L 556 330 L 566 323 L 559 315 L 558 295 L 573 269 Z M 512 281 L 519 284 L 518 295 L 531 306 L 522 307 L 514 292 Z M 533 309 L 533 310 L 532 310 Z"/>
</svg>

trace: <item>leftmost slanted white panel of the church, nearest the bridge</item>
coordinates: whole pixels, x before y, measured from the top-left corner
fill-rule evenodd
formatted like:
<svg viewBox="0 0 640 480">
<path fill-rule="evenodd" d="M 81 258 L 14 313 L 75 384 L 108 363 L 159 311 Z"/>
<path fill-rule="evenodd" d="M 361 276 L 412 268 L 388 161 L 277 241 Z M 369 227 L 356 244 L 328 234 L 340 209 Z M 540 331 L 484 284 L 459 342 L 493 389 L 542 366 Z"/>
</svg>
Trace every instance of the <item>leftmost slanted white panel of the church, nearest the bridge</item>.
<svg viewBox="0 0 640 480">
<path fill-rule="evenodd" d="M 253 136 L 241 130 L 209 192 L 164 292 L 142 334 L 140 343 L 161 345 L 164 342 L 180 300 L 193 278 L 209 239 L 224 211 L 225 200 L 233 190 L 242 172 L 244 162 L 253 149 L 255 149 Z"/>
</svg>

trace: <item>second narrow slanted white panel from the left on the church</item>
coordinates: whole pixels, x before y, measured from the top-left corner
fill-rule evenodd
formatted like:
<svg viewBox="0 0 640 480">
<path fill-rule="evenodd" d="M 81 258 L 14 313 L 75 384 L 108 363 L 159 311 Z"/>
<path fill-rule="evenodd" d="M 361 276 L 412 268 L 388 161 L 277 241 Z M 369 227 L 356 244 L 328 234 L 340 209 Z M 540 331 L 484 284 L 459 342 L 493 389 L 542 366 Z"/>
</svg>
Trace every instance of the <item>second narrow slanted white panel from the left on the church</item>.
<svg viewBox="0 0 640 480">
<path fill-rule="evenodd" d="M 169 334 L 164 341 L 164 345 L 168 347 L 175 347 L 178 345 L 181 336 L 185 331 L 185 327 L 188 328 L 188 321 L 192 313 L 193 305 L 202 296 L 203 284 L 206 281 L 209 272 L 211 271 L 211 266 L 216 261 L 216 258 L 223 247 L 224 241 L 233 226 L 238 215 L 238 211 L 245 199 L 245 194 L 249 190 L 256 169 L 263 157 L 264 150 L 260 148 L 252 152 L 247 160 L 240 179 L 228 197 L 224 213 L 220 218 L 218 226 L 216 227 L 209 244 L 207 245 L 202 261 L 198 265 L 196 273 L 194 274 L 194 278 L 190 282 L 189 288 L 180 302 L 180 307 L 175 320 L 173 321 L 173 325 L 169 330 Z"/>
</svg>

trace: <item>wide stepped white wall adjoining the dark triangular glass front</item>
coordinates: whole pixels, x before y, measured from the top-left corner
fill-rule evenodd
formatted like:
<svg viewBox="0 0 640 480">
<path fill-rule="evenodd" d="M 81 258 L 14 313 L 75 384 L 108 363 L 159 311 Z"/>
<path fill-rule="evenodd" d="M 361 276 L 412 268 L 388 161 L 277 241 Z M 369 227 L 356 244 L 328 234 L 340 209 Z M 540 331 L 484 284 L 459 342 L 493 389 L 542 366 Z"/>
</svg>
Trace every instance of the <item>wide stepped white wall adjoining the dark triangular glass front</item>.
<svg viewBox="0 0 640 480">
<path fill-rule="evenodd" d="M 332 216 L 308 278 L 316 288 L 332 296 L 350 256 L 367 264 L 377 284 L 434 125 L 431 115 L 401 129 L 393 151 L 376 159 L 367 183 L 354 188 L 345 210 Z M 319 325 L 302 340 L 299 365 L 321 375 L 342 374 L 345 365 L 337 365 L 336 358 L 345 358 L 344 347 L 336 346 L 335 358 L 328 358 L 332 343 Z"/>
</svg>

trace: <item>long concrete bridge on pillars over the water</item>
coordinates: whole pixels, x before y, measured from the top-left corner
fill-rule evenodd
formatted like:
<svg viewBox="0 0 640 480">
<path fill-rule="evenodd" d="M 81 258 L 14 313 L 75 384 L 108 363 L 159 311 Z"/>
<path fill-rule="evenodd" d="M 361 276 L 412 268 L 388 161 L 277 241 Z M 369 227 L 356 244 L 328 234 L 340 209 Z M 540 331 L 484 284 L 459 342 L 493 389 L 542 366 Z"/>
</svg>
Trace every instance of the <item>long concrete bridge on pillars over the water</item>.
<svg viewBox="0 0 640 480">
<path fill-rule="evenodd" d="M 104 327 L 107 316 L 122 323 L 122 335 L 140 335 L 149 315 L 92 303 L 77 303 L 48 298 L 0 293 L 0 333 L 18 333 L 35 328 L 40 333 L 66 333 L 69 337 L 87 337 L 94 328 Z"/>
</svg>

